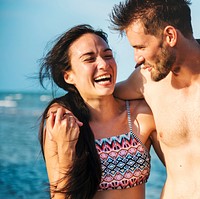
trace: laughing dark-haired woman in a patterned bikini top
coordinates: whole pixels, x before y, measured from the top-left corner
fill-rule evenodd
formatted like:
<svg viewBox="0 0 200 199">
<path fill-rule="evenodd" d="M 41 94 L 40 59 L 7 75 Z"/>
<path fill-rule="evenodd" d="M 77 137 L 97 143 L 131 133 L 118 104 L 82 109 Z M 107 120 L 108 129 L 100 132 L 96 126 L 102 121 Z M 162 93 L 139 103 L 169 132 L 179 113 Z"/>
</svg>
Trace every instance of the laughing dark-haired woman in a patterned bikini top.
<svg viewBox="0 0 200 199">
<path fill-rule="evenodd" d="M 41 83 L 49 77 L 68 91 L 41 125 L 53 198 L 145 198 L 151 142 L 162 153 L 146 102 L 113 96 L 116 75 L 107 35 L 89 25 L 67 31 L 44 59 Z"/>
</svg>

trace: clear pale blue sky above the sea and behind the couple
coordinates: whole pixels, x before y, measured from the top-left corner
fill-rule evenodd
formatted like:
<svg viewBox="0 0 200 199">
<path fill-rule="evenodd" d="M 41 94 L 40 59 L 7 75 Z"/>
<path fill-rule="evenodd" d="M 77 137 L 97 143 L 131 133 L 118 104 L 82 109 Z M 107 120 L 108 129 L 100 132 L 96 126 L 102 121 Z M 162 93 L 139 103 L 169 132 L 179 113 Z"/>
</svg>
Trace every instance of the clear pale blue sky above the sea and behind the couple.
<svg viewBox="0 0 200 199">
<path fill-rule="evenodd" d="M 0 91 L 42 91 L 39 60 L 49 42 L 74 25 L 87 23 L 108 34 L 118 64 L 117 81 L 134 70 L 126 37 L 108 27 L 109 14 L 121 0 L 0 0 Z M 192 0 L 192 25 L 200 38 L 200 1 Z"/>
</svg>

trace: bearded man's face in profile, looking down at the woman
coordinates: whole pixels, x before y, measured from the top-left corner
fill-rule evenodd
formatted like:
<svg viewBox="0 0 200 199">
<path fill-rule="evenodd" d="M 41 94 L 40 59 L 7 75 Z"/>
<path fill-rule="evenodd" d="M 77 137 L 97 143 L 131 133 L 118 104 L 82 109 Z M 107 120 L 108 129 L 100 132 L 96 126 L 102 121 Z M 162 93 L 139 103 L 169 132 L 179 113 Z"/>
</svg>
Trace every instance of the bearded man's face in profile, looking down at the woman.
<svg viewBox="0 0 200 199">
<path fill-rule="evenodd" d="M 154 81 L 165 78 L 176 60 L 173 49 L 162 37 L 147 35 L 141 22 L 134 22 L 125 30 L 129 43 L 134 48 L 135 61 L 143 60 L 143 65 L 151 72 Z"/>
</svg>

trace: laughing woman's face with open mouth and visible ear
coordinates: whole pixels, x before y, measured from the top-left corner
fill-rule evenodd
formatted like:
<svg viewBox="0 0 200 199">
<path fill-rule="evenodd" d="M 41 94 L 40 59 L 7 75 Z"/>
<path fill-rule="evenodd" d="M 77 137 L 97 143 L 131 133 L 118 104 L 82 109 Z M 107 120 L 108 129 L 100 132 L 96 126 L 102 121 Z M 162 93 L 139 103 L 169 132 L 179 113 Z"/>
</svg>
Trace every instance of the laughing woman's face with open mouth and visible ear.
<svg viewBox="0 0 200 199">
<path fill-rule="evenodd" d="M 84 34 L 69 48 L 71 70 L 64 77 L 74 84 L 84 100 L 111 95 L 117 67 L 112 50 L 99 36 Z"/>
</svg>

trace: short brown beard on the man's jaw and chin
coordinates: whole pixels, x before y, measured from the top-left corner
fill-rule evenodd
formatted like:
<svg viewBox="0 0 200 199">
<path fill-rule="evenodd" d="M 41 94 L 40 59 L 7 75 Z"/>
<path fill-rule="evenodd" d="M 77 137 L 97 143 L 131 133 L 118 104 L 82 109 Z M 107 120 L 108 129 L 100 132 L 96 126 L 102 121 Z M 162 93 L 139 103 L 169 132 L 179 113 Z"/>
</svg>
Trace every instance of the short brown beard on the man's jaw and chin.
<svg viewBox="0 0 200 199">
<path fill-rule="evenodd" d="M 175 60 L 175 53 L 171 49 L 163 46 L 161 48 L 161 53 L 157 55 L 156 62 L 151 70 L 152 80 L 157 82 L 164 79 L 171 71 Z"/>
</svg>

